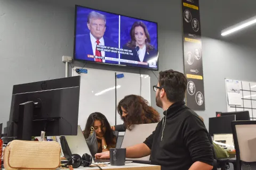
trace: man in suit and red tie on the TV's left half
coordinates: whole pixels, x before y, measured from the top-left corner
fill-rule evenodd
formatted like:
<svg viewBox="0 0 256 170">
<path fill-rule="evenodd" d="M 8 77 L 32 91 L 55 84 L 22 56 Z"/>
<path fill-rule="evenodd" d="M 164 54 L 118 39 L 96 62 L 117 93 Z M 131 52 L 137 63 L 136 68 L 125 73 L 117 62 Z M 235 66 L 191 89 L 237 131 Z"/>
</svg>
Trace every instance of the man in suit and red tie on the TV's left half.
<svg viewBox="0 0 256 170">
<path fill-rule="evenodd" d="M 77 36 L 75 58 L 77 60 L 87 60 L 100 63 L 118 64 L 115 61 L 102 60 L 94 56 L 118 58 L 117 53 L 98 50 L 97 45 L 107 47 L 118 47 L 117 44 L 107 37 L 103 37 L 106 31 L 106 16 L 92 11 L 87 17 L 87 27 L 90 30 L 89 35 Z"/>
</svg>

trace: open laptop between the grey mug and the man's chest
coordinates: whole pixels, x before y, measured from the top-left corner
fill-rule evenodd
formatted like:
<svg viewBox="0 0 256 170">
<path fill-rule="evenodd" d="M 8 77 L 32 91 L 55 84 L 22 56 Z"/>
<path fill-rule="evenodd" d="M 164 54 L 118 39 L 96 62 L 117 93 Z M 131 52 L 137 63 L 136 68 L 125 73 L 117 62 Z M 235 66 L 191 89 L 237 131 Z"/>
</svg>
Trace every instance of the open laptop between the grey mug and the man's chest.
<svg viewBox="0 0 256 170">
<path fill-rule="evenodd" d="M 142 143 L 152 134 L 153 131 L 156 130 L 156 126 L 158 123 L 150 123 L 150 124 L 136 124 L 130 127 L 131 130 L 126 130 L 124 134 L 124 139 L 121 145 L 121 148 L 127 148 L 139 143 Z M 150 155 L 143 158 L 136 159 L 126 159 L 132 160 L 134 163 L 141 164 L 150 164 Z"/>
</svg>

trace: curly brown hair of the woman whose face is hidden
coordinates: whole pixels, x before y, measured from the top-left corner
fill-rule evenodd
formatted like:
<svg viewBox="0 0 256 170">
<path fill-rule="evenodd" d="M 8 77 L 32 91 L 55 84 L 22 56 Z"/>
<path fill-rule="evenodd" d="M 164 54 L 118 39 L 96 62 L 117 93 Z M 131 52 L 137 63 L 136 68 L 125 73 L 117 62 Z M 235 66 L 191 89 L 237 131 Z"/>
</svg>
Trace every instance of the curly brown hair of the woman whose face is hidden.
<svg viewBox="0 0 256 170">
<path fill-rule="evenodd" d="M 125 117 L 122 116 L 123 111 L 121 107 L 128 113 Z M 159 113 L 148 105 L 148 101 L 137 95 L 125 96 L 119 101 L 117 111 L 129 130 L 132 124 L 158 123 L 160 120 Z"/>
</svg>

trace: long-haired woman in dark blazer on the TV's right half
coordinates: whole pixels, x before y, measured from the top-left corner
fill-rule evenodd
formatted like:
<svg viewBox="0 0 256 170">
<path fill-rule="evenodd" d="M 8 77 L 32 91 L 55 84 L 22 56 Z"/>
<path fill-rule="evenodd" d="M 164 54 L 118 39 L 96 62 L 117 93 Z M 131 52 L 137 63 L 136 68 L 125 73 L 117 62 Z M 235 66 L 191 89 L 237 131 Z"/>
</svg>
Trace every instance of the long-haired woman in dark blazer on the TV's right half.
<svg viewBox="0 0 256 170">
<path fill-rule="evenodd" d="M 150 36 L 147 26 L 141 22 L 134 22 L 130 30 L 131 40 L 126 43 L 124 49 L 132 50 L 133 55 L 122 54 L 121 59 L 144 62 L 156 65 L 157 50 L 150 44 Z M 129 66 L 136 66 L 137 64 L 121 63 Z M 148 67 L 148 65 L 139 65 L 140 67 Z"/>
</svg>

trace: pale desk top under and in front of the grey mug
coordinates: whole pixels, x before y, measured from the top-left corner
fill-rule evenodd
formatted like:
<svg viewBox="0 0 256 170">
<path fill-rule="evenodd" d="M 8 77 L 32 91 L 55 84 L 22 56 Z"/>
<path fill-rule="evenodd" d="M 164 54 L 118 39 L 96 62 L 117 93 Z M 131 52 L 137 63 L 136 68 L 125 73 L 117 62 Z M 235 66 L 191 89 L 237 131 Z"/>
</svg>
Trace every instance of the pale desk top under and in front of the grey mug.
<svg viewBox="0 0 256 170">
<path fill-rule="evenodd" d="M 157 166 L 157 165 L 147 165 L 147 164 L 136 164 L 136 163 L 127 163 L 124 166 L 111 166 L 111 165 L 107 165 L 105 167 L 101 167 L 102 169 L 122 169 L 122 170 L 160 170 L 161 166 Z M 77 169 L 91 169 L 91 170 L 95 170 L 95 169 L 99 169 L 98 167 L 79 167 Z"/>
</svg>

